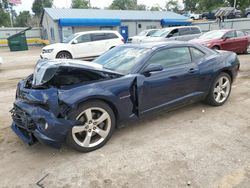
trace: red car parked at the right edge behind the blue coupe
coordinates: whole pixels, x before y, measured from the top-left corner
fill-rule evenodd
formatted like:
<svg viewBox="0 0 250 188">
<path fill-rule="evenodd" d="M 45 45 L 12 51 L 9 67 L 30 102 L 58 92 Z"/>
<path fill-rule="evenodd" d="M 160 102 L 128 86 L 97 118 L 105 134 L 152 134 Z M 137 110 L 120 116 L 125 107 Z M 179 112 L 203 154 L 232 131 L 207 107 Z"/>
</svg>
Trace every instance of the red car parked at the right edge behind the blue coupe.
<svg viewBox="0 0 250 188">
<path fill-rule="evenodd" d="M 250 35 L 245 31 L 213 30 L 190 42 L 199 43 L 216 50 L 250 53 Z"/>
</svg>

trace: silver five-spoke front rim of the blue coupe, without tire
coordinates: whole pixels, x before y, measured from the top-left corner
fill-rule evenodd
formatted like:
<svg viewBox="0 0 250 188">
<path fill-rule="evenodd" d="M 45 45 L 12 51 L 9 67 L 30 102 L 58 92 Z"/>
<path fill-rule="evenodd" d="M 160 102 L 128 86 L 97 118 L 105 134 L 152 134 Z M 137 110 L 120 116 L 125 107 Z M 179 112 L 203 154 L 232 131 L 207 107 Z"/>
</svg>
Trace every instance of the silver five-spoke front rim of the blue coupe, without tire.
<svg viewBox="0 0 250 188">
<path fill-rule="evenodd" d="M 83 124 L 72 128 L 72 137 L 81 147 L 90 148 L 101 144 L 110 132 L 111 118 L 103 108 L 88 108 L 76 119 Z"/>
</svg>

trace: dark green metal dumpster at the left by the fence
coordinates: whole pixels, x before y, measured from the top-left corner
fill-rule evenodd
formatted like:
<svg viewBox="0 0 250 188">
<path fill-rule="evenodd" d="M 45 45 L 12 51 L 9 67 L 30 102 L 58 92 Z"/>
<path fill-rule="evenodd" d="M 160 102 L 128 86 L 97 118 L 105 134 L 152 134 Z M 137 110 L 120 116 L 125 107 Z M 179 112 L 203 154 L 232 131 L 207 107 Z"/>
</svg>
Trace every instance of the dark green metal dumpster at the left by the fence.
<svg viewBox="0 0 250 188">
<path fill-rule="evenodd" d="M 28 27 L 14 35 L 11 35 L 7 38 L 8 46 L 10 51 L 23 51 L 28 50 L 27 40 L 25 32 L 30 30 L 31 27 Z"/>
</svg>

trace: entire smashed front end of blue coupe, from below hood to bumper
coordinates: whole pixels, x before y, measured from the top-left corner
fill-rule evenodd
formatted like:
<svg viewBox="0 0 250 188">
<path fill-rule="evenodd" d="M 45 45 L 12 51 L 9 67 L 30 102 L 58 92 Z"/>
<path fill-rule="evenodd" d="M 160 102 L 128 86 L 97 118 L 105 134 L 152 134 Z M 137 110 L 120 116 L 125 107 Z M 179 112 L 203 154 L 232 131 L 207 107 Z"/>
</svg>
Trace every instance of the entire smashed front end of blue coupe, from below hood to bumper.
<svg viewBox="0 0 250 188">
<path fill-rule="evenodd" d="M 27 79 L 17 86 L 11 127 L 26 144 L 39 141 L 59 148 L 77 121 L 62 113 L 57 89 L 32 89 L 26 87 Z"/>
</svg>

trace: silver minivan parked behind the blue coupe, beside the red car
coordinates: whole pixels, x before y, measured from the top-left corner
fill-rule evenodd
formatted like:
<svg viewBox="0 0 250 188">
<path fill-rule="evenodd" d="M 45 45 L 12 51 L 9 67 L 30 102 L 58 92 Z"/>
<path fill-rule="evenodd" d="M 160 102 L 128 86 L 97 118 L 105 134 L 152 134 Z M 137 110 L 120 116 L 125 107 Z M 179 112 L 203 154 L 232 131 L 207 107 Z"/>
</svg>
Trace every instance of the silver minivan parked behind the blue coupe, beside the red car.
<svg viewBox="0 0 250 188">
<path fill-rule="evenodd" d="M 201 35 L 197 26 L 168 27 L 155 32 L 151 37 L 145 38 L 142 42 L 155 42 L 166 40 L 188 41 Z"/>
</svg>

